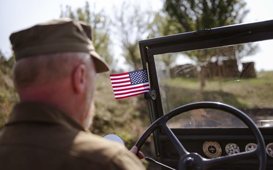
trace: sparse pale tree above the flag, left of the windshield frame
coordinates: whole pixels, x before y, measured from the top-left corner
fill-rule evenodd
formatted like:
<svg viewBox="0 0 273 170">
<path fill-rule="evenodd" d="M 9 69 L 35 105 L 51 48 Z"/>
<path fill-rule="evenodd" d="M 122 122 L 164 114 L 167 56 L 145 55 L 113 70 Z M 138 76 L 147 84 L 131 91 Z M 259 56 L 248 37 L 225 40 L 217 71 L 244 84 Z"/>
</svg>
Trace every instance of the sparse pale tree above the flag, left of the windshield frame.
<svg viewBox="0 0 273 170">
<path fill-rule="evenodd" d="M 114 33 L 125 62 L 135 70 L 142 68 L 138 41 L 148 36 L 152 19 L 152 13 L 141 11 L 138 5 L 124 2 L 121 8 L 115 10 L 112 22 Z"/>
</svg>

